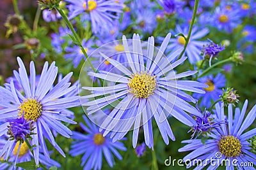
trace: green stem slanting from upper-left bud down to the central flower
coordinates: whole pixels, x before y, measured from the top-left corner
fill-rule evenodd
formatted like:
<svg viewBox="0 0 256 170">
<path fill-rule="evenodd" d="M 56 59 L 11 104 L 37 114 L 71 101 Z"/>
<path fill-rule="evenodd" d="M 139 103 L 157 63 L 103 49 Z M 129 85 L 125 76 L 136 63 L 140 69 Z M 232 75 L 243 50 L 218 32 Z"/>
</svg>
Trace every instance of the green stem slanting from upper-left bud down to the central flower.
<svg viewBox="0 0 256 170">
<path fill-rule="evenodd" d="M 55 6 L 55 9 L 60 13 L 61 17 L 65 20 L 66 24 L 68 25 L 70 31 L 73 33 L 74 38 L 76 39 L 76 43 L 77 45 L 81 48 L 81 51 L 83 52 L 86 60 L 88 60 L 90 66 L 92 67 L 92 70 L 96 73 L 96 69 L 93 67 L 92 62 L 90 61 L 90 59 L 88 58 L 87 53 L 84 50 L 84 47 L 81 43 L 81 39 L 79 38 L 79 36 L 77 36 L 77 33 L 73 27 L 73 25 L 70 23 L 70 21 L 68 20 L 67 16 L 65 15 L 65 13 L 63 13 L 63 10 L 61 10 L 60 6 Z"/>
</svg>

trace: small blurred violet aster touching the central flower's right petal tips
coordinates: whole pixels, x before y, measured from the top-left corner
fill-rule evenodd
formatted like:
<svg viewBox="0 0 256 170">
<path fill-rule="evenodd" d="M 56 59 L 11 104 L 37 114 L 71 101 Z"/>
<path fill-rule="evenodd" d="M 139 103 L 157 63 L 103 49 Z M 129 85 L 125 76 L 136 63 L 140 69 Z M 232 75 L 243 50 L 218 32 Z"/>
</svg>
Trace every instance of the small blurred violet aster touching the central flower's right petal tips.
<svg viewBox="0 0 256 170">
<path fill-rule="evenodd" d="M 221 73 L 213 76 L 212 74 L 209 76 L 205 76 L 203 78 L 198 78 L 199 82 L 205 83 L 209 85 L 209 87 L 205 88 L 205 94 L 193 94 L 193 97 L 196 99 L 200 99 L 200 107 L 205 106 L 207 108 L 211 107 L 211 101 L 217 101 L 220 99 L 220 95 L 222 94 L 222 88 L 225 87 L 226 79 L 225 76 Z"/>
</svg>

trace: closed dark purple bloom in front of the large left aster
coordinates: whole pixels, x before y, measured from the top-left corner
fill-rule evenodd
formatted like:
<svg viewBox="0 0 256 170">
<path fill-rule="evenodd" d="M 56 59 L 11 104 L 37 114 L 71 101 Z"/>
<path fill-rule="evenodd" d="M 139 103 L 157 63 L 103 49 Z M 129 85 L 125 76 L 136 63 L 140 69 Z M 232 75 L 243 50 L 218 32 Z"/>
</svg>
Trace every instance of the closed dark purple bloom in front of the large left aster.
<svg viewBox="0 0 256 170">
<path fill-rule="evenodd" d="M 30 120 L 29 122 L 22 116 L 20 118 L 12 118 L 8 119 L 7 122 L 9 122 L 8 126 L 8 135 L 10 135 L 11 139 L 15 139 L 15 141 L 20 141 L 23 143 L 27 138 L 31 138 L 30 135 L 34 134 L 33 131 L 35 128 L 33 128 L 33 122 Z"/>
</svg>

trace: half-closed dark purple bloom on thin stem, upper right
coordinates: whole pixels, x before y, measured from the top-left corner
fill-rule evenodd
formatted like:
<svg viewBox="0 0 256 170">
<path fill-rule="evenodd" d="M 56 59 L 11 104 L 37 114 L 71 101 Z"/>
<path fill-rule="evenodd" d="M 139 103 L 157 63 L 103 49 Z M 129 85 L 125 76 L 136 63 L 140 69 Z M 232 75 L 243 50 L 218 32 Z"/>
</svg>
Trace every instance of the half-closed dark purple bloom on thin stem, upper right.
<svg viewBox="0 0 256 170">
<path fill-rule="evenodd" d="M 211 60 L 216 57 L 221 51 L 225 50 L 225 45 L 216 45 L 211 39 L 208 39 L 211 44 L 204 45 L 203 53 L 204 58 L 209 59 L 209 66 L 211 67 Z"/>
</svg>

